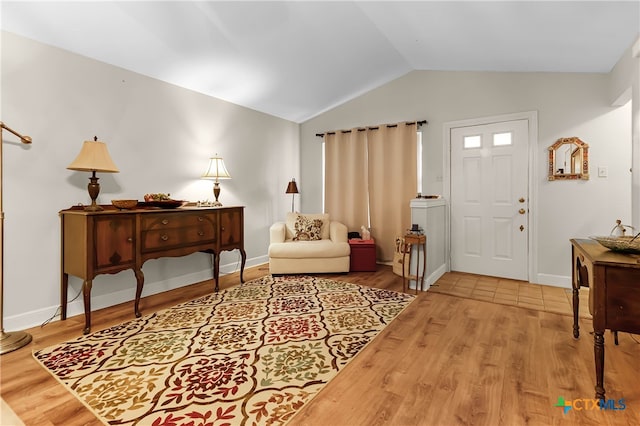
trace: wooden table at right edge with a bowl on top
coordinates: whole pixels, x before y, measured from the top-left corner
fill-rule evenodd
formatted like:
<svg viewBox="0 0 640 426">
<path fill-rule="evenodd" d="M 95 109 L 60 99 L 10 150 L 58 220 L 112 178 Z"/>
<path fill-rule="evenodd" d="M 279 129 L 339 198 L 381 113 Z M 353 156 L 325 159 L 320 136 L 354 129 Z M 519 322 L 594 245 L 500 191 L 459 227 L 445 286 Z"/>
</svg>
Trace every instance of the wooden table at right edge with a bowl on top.
<svg viewBox="0 0 640 426">
<path fill-rule="evenodd" d="M 604 331 L 640 333 L 640 256 L 611 251 L 595 240 L 571 240 L 573 336 L 580 336 L 580 287 L 589 287 L 593 316 L 596 398 L 605 399 Z"/>
</svg>

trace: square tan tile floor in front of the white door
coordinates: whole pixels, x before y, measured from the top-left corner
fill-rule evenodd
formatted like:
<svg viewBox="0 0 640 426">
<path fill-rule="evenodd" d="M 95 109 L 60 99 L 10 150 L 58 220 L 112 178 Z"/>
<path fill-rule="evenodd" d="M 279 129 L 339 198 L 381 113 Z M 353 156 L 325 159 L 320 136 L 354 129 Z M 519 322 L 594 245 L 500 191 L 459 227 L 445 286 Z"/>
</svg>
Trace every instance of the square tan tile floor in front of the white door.
<svg viewBox="0 0 640 426">
<path fill-rule="evenodd" d="M 462 272 L 447 272 L 431 286 L 429 291 L 573 315 L 572 290 L 568 288 Z M 580 289 L 579 305 L 580 316 L 591 318 L 588 288 Z"/>
</svg>

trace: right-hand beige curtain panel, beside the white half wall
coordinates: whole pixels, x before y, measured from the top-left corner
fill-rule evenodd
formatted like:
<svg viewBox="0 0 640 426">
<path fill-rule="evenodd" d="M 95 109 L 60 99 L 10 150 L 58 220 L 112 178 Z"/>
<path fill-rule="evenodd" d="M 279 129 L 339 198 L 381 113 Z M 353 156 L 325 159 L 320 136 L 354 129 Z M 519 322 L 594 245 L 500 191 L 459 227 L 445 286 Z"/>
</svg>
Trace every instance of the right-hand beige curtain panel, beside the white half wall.
<svg viewBox="0 0 640 426">
<path fill-rule="evenodd" d="M 409 202 L 417 192 L 416 123 L 367 132 L 371 235 L 378 261 L 393 260 L 396 236 L 411 226 Z"/>
</svg>

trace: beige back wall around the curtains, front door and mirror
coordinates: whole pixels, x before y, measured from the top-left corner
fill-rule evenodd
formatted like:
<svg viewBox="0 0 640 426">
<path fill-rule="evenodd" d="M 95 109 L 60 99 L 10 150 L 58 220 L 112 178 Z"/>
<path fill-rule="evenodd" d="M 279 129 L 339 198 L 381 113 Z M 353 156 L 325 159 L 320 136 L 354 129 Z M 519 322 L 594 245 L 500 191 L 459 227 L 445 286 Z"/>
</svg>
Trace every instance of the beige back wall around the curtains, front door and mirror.
<svg viewBox="0 0 640 426">
<path fill-rule="evenodd" d="M 608 234 L 620 218 L 631 220 L 631 110 L 612 107 L 605 74 L 414 71 L 301 126 L 303 211 L 319 211 L 321 139 L 316 133 L 355 126 L 426 119 L 423 193 L 442 193 L 443 125 L 446 122 L 537 111 L 538 141 L 531 205 L 534 240 L 531 280 L 568 285 L 569 238 Z M 546 180 L 547 147 L 578 136 L 590 146 L 591 180 Z M 597 177 L 606 166 L 607 178 Z"/>
</svg>

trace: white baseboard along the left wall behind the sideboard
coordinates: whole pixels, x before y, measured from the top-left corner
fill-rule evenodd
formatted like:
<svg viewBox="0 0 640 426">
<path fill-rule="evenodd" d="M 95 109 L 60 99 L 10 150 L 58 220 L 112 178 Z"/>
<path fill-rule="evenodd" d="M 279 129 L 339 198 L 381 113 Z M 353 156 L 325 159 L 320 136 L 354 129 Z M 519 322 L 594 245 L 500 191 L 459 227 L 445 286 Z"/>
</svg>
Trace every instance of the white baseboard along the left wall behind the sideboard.
<svg viewBox="0 0 640 426">
<path fill-rule="evenodd" d="M 268 261 L 269 258 L 267 256 L 247 259 L 245 269 L 261 265 Z M 237 262 L 220 265 L 220 276 L 232 274 L 238 271 L 239 267 L 240 266 Z M 176 288 L 199 283 L 202 281 L 207 281 L 212 279 L 212 277 L 213 273 L 211 269 L 207 268 L 206 270 L 192 272 L 190 274 L 173 277 L 167 280 L 148 282 L 145 283 L 142 297 L 163 293 L 165 291 L 174 290 Z M 135 316 L 133 314 L 132 294 L 135 294 L 135 286 L 130 289 L 91 297 L 91 310 L 95 311 L 120 303 L 131 302 L 131 319 L 133 319 L 135 318 Z M 148 312 L 143 312 L 143 314 L 145 313 Z M 4 326 L 5 329 L 9 332 L 14 330 L 25 330 L 27 328 L 42 325 L 46 321 L 49 321 L 51 318 L 51 321 L 60 321 L 60 315 L 60 305 L 55 305 L 7 317 L 4 319 Z M 76 315 L 84 315 L 84 303 L 82 301 L 82 297 L 79 297 L 73 302 L 69 302 L 67 304 L 67 318 L 71 318 Z"/>
</svg>

